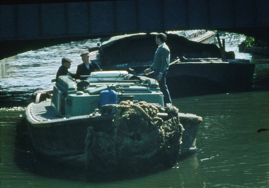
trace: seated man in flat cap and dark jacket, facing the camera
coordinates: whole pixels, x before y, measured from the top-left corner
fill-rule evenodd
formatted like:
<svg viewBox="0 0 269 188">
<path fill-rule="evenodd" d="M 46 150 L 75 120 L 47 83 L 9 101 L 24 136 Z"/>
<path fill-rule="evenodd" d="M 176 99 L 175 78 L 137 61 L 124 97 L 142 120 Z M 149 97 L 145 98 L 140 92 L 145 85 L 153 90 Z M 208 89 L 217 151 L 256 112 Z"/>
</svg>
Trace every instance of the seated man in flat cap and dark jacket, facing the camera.
<svg viewBox="0 0 269 188">
<path fill-rule="evenodd" d="M 79 64 L 77 67 L 76 78 L 80 79 L 80 76 L 90 75 L 91 72 L 95 70 L 101 70 L 98 63 L 90 61 L 90 53 L 84 51 L 80 54 L 83 63 Z"/>
</svg>

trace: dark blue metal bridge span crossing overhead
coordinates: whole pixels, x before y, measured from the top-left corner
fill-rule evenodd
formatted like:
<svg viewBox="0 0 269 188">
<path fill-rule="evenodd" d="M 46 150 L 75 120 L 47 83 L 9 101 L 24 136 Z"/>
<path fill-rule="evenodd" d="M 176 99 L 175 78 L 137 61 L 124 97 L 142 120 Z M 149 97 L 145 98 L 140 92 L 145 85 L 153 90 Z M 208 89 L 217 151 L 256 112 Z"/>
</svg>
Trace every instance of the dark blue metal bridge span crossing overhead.
<svg viewBox="0 0 269 188">
<path fill-rule="evenodd" d="M 269 40 L 268 0 L 10 1 L 0 5 L 1 59 L 59 43 L 137 32 L 208 29 Z"/>
</svg>

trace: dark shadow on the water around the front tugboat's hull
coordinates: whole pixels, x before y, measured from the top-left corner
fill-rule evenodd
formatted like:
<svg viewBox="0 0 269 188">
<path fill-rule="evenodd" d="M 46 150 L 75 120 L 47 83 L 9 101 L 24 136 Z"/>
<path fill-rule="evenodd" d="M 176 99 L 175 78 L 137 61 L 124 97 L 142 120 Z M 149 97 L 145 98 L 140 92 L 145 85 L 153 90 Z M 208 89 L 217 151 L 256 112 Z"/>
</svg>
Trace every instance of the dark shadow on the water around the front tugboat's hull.
<svg viewBox="0 0 269 188">
<path fill-rule="evenodd" d="M 178 162 L 188 158 L 188 156 L 181 156 Z M 86 173 L 84 165 L 84 156 L 77 156 L 73 158 L 49 158 L 39 155 L 32 147 L 30 138 L 27 132 L 27 120 L 22 118 L 16 125 L 15 132 L 15 164 L 22 170 L 34 173 L 36 175 L 45 176 L 48 178 L 86 181 L 86 182 L 115 182 L 125 179 L 135 179 L 143 176 L 159 173 L 168 170 L 168 167 L 156 166 L 153 169 L 147 169 L 143 172 L 134 172 L 132 170 L 127 172 L 115 173 L 100 173 L 92 171 Z"/>
</svg>

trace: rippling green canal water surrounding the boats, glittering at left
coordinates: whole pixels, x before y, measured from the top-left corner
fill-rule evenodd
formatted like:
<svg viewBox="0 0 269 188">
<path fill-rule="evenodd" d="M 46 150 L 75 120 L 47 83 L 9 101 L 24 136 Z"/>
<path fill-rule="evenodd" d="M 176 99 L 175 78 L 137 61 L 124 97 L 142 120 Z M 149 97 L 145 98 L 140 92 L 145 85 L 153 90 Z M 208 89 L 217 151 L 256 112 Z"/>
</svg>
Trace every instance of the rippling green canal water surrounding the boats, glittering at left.
<svg viewBox="0 0 269 188">
<path fill-rule="evenodd" d="M 31 94 L 51 88 L 61 58 L 81 63 L 79 54 L 98 39 L 59 44 L 0 62 L 0 175 L 3 187 L 269 187 L 269 57 L 239 53 L 245 36 L 220 33 L 226 51 L 255 63 L 253 91 L 173 98 L 180 112 L 203 117 L 197 151 L 171 169 L 144 174 L 94 176 L 84 168 L 57 163 L 32 149 L 25 122 Z M 216 40 L 214 43 L 217 43 Z"/>
</svg>

